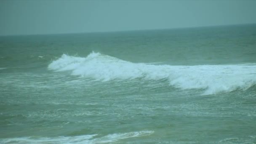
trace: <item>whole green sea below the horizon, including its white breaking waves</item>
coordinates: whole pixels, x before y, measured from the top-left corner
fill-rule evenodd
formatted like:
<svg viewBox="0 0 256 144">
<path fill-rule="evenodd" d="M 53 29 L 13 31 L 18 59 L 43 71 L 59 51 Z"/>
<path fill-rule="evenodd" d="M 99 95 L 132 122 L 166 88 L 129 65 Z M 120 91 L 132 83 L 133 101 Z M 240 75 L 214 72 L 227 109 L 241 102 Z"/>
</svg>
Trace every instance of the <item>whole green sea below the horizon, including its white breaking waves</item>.
<svg viewBox="0 0 256 144">
<path fill-rule="evenodd" d="M 2 36 L 0 143 L 256 143 L 256 24 Z"/>
</svg>

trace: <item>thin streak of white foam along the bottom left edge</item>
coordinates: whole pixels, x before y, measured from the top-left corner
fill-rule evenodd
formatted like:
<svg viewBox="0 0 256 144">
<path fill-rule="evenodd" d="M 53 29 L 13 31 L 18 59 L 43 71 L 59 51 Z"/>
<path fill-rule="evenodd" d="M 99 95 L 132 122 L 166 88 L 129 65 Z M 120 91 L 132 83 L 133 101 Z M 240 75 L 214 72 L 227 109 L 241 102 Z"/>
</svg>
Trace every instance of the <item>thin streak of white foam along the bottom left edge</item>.
<svg viewBox="0 0 256 144">
<path fill-rule="evenodd" d="M 112 143 L 121 139 L 128 139 L 139 136 L 149 136 L 154 131 L 139 131 L 129 133 L 114 133 L 107 136 L 97 137 L 94 135 L 83 136 L 60 136 L 60 137 L 22 137 L 22 138 L 7 138 L 0 139 L 3 143 L 15 143 L 15 144 L 103 144 Z"/>
</svg>

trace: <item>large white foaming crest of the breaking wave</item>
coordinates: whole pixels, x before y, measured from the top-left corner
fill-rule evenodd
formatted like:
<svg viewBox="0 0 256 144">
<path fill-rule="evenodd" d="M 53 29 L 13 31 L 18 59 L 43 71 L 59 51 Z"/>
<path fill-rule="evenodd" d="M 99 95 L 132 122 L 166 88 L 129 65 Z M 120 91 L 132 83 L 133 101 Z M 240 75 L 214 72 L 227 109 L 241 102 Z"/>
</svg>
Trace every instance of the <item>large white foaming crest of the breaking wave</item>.
<svg viewBox="0 0 256 144">
<path fill-rule="evenodd" d="M 256 64 L 171 66 L 136 64 L 101 53 L 91 53 L 85 58 L 63 54 L 52 61 L 48 69 L 71 71 L 71 75 L 96 80 L 168 79 L 176 88 L 203 88 L 204 94 L 247 89 L 256 84 Z"/>
</svg>

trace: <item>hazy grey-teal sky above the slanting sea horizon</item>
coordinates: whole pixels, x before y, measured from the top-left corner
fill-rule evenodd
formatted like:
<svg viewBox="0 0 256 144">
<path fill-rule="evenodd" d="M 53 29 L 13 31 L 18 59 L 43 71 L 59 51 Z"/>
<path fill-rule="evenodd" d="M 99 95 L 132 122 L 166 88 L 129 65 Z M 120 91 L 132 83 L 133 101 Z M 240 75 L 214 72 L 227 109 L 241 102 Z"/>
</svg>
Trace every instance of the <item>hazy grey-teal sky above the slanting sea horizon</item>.
<svg viewBox="0 0 256 144">
<path fill-rule="evenodd" d="M 0 0 L 0 35 L 256 23 L 256 0 Z"/>
</svg>

